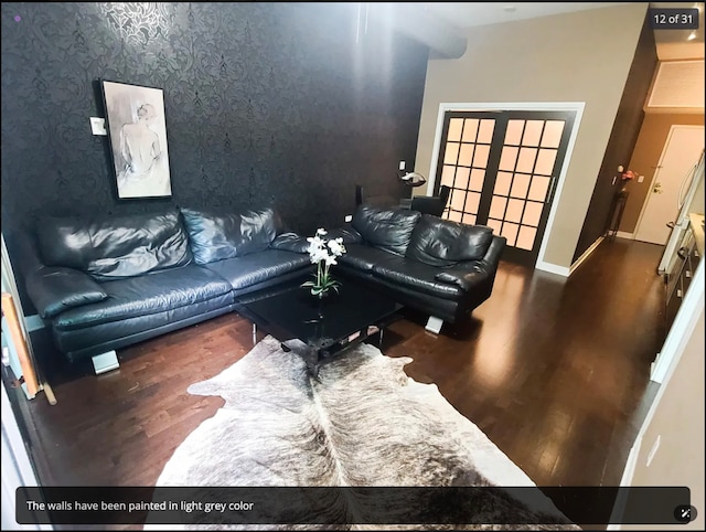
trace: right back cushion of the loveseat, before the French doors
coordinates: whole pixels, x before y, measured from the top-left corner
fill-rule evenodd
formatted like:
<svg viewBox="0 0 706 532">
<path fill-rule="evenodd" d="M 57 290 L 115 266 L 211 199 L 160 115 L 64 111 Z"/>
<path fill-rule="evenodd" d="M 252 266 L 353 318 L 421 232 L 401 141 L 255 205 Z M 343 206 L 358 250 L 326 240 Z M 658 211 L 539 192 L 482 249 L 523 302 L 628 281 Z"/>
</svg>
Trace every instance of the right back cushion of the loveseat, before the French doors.
<svg viewBox="0 0 706 532">
<path fill-rule="evenodd" d="M 431 266 L 453 266 L 485 256 L 493 230 L 425 214 L 411 234 L 406 256 Z"/>
</svg>

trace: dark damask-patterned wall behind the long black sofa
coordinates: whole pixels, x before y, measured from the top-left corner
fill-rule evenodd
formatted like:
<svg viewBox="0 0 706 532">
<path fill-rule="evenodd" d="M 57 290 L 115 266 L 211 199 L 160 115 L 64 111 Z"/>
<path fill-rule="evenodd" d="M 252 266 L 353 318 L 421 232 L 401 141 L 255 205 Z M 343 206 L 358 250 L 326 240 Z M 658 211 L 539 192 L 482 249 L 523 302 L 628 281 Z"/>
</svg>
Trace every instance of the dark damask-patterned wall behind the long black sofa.
<svg viewBox="0 0 706 532">
<path fill-rule="evenodd" d="M 336 226 L 408 195 L 428 49 L 356 3 L 2 3 L 2 230 L 42 214 L 240 210 Z M 357 42 L 356 42 L 357 41 Z M 163 88 L 171 200 L 118 201 L 99 79 Z M 24 299 L 24 298 L 23 298 Z"/>
</svg>

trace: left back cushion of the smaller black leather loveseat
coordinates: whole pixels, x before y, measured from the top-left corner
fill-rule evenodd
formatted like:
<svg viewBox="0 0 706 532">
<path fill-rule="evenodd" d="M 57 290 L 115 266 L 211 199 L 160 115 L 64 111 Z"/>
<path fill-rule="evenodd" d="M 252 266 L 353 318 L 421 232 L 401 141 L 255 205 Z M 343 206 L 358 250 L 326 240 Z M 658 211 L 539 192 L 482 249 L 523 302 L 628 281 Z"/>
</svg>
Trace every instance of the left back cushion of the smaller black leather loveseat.
<svg viewBox="0 0 706 532">
<path fill-rule="evenodd" d="M 420 217 L 421 213 L 417 211 L 363 204 L 355 210 L 352 225 L 367 245 L 404 256 Z"/>
</svg>

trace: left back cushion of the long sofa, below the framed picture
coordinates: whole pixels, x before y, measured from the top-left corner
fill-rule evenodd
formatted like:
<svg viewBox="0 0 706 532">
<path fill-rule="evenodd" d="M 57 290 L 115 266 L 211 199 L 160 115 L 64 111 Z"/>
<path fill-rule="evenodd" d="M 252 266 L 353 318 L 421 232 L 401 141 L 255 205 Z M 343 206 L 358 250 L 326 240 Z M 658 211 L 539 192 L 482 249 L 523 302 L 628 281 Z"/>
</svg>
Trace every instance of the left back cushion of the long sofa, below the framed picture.
<svg viewBox="0 0 706 532">
<path fill-rule="evenodd" d="M 192 262 L 179 211 L 78 217 L 45 217 L 36 227 L 46 266 L 79 269 L 97 280 L 122 279 Z"/>
</svg>

